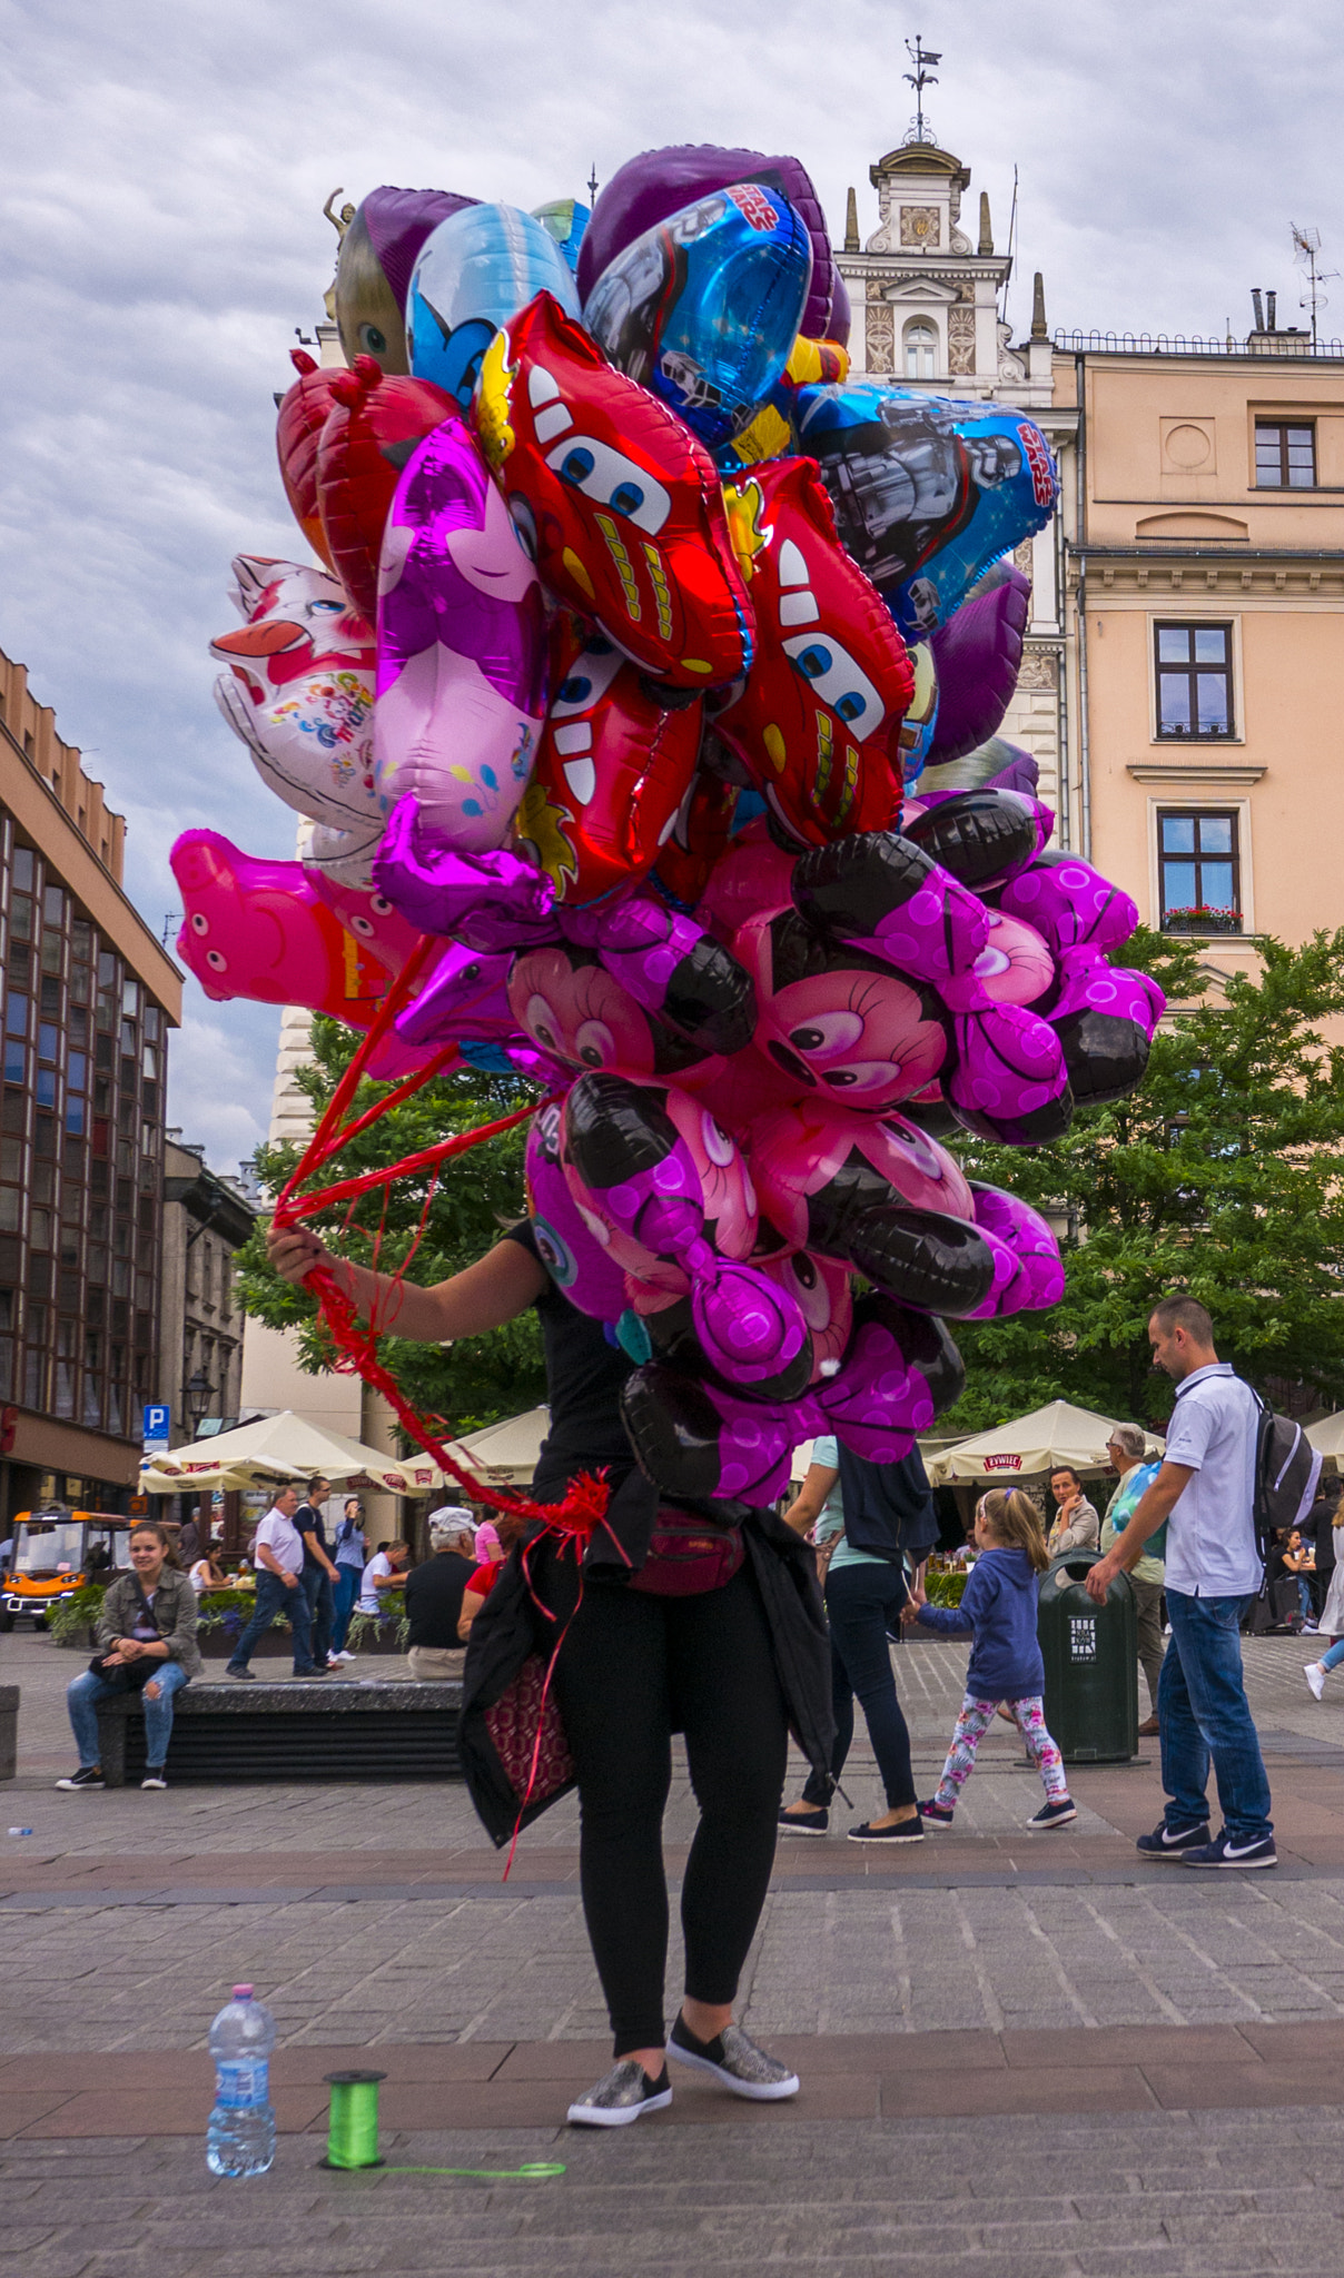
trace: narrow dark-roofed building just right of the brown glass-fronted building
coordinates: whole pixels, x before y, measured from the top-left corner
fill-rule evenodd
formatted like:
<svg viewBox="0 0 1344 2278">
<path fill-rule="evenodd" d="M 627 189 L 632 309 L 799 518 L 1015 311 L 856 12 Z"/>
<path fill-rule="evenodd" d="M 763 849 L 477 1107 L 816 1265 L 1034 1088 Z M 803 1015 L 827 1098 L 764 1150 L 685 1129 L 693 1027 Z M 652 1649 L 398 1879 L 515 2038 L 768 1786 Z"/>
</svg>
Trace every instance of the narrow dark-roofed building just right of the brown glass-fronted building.
<svg viewBox="0 0 1344 2278">
<path fill-rule="evenodd" d="M 159 1399 L 171 1412 L 171 1447 L 196 1437 L 203 1424 L 228 1431 L 237 1421 L 244 1314 L 232 1255 L 255 1223 L 241 1185 L 210 1171 L 205 1148 L 182 1132 L 166 1132 Z"/>
</svg>

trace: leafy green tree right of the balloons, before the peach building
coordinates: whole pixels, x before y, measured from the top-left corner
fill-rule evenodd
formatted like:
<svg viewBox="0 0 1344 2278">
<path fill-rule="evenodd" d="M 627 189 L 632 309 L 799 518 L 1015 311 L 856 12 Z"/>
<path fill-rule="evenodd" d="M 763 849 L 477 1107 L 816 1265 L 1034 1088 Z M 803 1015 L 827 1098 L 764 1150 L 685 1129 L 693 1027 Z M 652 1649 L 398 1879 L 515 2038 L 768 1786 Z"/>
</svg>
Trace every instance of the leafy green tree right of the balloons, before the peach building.
<svg viewBox="0 0 1344 2278">
<path fill-rule="evenodd" d="M 1159 1424 L 1148 1314 L 1198 1296 L 1219 1353 L 1257 1387 L 1344 1406 L 1344 929 L 1298 950 L 1260 941 L 1260 973 L 1200 998 L 1196 952 L 1139 934 L 1123 961 L 1175 1005 L 1141 1089 L 1025 1153 L 957 1141 L 968 1175 L 1011 1187 L 1064 1228 L 1066 1296 L 1048 1314 L 952 1324 L 968 1387 L 950 1428 L 1050 1399 Z M 941 1424 L 941 1428 L 945 1428 Z"/>
</svg>

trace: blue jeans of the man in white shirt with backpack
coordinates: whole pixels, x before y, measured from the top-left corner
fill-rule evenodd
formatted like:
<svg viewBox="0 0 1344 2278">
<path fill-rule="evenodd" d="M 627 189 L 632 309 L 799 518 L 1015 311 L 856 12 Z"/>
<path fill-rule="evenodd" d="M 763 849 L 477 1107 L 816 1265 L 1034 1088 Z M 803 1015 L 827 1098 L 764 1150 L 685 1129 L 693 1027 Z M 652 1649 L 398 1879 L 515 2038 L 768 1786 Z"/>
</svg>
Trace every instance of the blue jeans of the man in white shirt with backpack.
<svg viewBox="0 0 1344 2278">
<path fill-rule="evenodd" d="M 1166 1588 L 1171 1647 L 1157 1686 L 1162 1720 L 1162 1786 L 1166 1827 L 1207 1820 L 1210 1756 L 1223 1806 L 1223 1832 L 1235 1843 L 1273 1834 L 1269 1779 L 1241 1677 L 1241 1617 L 1248 1597 L 1185 1597 Z"/>
</svg>

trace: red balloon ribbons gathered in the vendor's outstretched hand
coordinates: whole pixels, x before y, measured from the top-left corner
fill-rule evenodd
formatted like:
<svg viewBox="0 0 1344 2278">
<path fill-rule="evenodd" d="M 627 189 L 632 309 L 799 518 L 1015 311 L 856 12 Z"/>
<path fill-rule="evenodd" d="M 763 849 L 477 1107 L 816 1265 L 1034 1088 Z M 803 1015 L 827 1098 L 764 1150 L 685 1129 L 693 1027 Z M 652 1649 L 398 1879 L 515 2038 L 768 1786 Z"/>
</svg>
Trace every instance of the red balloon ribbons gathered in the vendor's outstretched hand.
<svg viewBox="0 0 1344 2278">
<path fill-rule="evenodd" d="M 421 1447 L 426 1456 L 431 1456 L 431 1460 L 440 1467 L 440 1472 L 444 1472 L 444 1476 L 456 1478 L 458 1485 L 465 1488 L 474 1501 L 490 1503 L 494 1510 L 515 1513 L 517 1517 L 528 1522 L 538 1522 L 551 1535 L 588 1540 L 588 1535 L 604 1519 L 606 1513 L 606 1501 L 608 1501 L 606 1481 L 592 1478 L 588 1472 L 579 1474 L 579 1478 L 569 1483 L 569 1492 L 563 1503 L 533 1503 L 531 1497 L 526 1494 L 490 1488 L 483 1478 L 476 1478 L 472 1472 L 465 1472 L 449 1453 L 446 1447 L 446 1437 L 451 1431 L 449 1421 L 440 1415 L 421 1417 L 410 1406 L 410 1401 L 396 1385 L 394 1376 L 390 1376 L 390 1371 L 378 1360 L 378 1337 L 380 1337 L 378 1317 L 383 1319 L 383 1324 L 390 1324 L 396 1317 L 392 1298 L 399 1294 L 405 1269 L 424 1239 L 428 1210 L 437 1187 L 440 1164 L 449 1162 L 453 1155 L 465 1155 L 469 1148 L 481 1146 L 485 1139 L 497 1139 L 501 1132 L 515 1130 L 517 1123 L 526 1123 L 531 1116 L 538 1114 L 538 1107 L 544 1107 L 549 1103 L 538 1100 L 531 1107 L 515 1109 L 515 1114 L 510 1116 L 501 1116 L 497 1123 L 481 1123 L 476 1125 L 476 1130 L 456 1132 L 451 1139 L 440 1139 L 437 1146 L 419 1148 L 415 1155 L 405 1155 L 390 1169 L 360 1171 L 353 1178 L 342 1178 L 335 1185 L 321 1187 L 312 1194 L 298 1194 L 305 1180 L 310 1180 L 314 1171 L 319 1171 L 335 1155 L 339 1155 L 342 1148 L 351 1144 L 351 1139 L 369 1130 L 392 1107 L 399 1107 L 401 1100 L 419 1091 L 431 1080 L 431 1075 L 442 1073 L 446 1064 L 458 1059 L 458 1048 L 444 1046 L 444 1050 L 437 1052 L 424 1068 L 419 1068 L 415 1075 L 408 1075 L 403 1082 L 394 1084 L 392 1091 L 387 1091 L 380 1100 L 367 1107 L 364 1114 L 355 1116 L 353 1123 L 344 1121 L 346 1109 L 351 1107 L 360 1089 L 360 1080 L 369 1066 L 376 1046 L 392 1027 L 392 1021 L 396 1018 L 401 1007 L 410 1000 L 415 982 L 419 980 L 428 957 L 435 952 L 442 952 L 442 941 L 435 934 L 421 934 L 419 943 L 405 959 L 405 966 L 392 982 L 392 989 L 383 998 L 369 1032 L 362 1036 L 360 1048 L 355 1050 L 355 1057 L 351 1059 L 339 1084 L 335 1087 L 326 1105 L 326 1112 L 321 1114 L 317 1130 L 308 1141 L 298 1164 L 285 1180 L 285 1187 L 276 1198 L 276 1212 L 271 1226 L 278 1232 L 282 1232 L 285 1228 L 298 1226 L 301 1219 L 308 1219 L 319 1210 L 333 1210 L 337 1203 L 349 1203 L 351 1212 L 358 1196 L 371 1194 L 376 1187 L 383 1187 L 385 1189 L 383 1221 L 378 1226 L 378 1237 L 376 1237 L 376 1253 L 378 1253 L 383 1244 L 383 1226 L 387 1219 L 387 1189 L 392 1187 L 392 1180 L 415 1178 L 421 1171 L 433 1171 L 435 1178 L 431 1180 L 431 1189 L 419 1216 L 415 1242 L 410 1246 L 410 1253 L 396 1269 L 396 1273 L 390 1278 L 387 1303 L 374 1308 L 374 1319 L 369 1319 L 367 1324 L 360 1321 L 355 1301 L 342 1287 L 330 1267 L 317 1264 L 312 1267 L 310 1273 L 303 1276 L 305 1287 L 312 1289 L 319 1301 L 321 1321 L 335 1346 L 333 1365 L 339 1374 L 362 1376 L 362 1380 L 374 1392 L 380 1392 L 392 1412 L 396 1415 L 396 1421 L 408 1433 L 408 1437 L 415 1440 L 415 1444 Z M 349 1223 L 349 1212 L 346 1212 L 346 1223 Z"/>
</svg>

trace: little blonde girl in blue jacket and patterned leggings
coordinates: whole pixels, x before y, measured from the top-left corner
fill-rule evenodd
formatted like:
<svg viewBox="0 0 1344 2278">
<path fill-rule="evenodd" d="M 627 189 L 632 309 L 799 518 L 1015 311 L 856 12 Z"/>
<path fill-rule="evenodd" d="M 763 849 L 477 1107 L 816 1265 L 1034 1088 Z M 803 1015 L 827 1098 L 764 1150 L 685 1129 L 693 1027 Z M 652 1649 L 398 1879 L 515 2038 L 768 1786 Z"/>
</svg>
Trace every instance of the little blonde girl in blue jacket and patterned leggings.
<svg viewBox="0 0 1344 2278">
<path fill-rule="evenodd" d="M 1027 1827 L 1066 1827 L 1077 1818 L 1064 1779 L 1064 1759 L 1046 1729 L 1046 1663 L 1036 1642 L 1036 1574 L 1050 1565 L 1036 1506 L 1021 1490 L 993 1488 L 975 1510 L 980 1558 L 959 1606 L 929 1606 L 923 1585 L 902 1608 L 902 1622 L 939 1629 L 945 1638 L 975 1638 L 966 1667 L 966 1699 L 948 1750 L 939 1793 L 920 1804 L 927 1827 L 950 1827 L 957 1797 L 975 1763 L 1000 1702 L 1046 1781 L 1046 1802 Z"/>
</svg>

